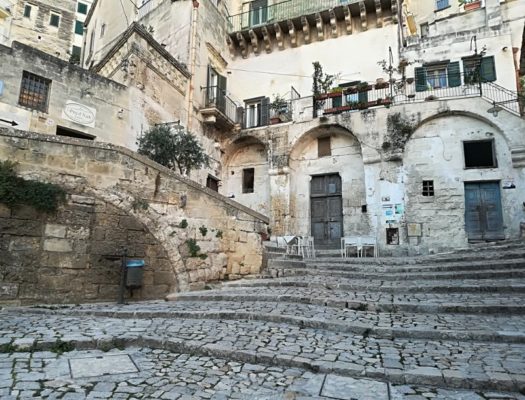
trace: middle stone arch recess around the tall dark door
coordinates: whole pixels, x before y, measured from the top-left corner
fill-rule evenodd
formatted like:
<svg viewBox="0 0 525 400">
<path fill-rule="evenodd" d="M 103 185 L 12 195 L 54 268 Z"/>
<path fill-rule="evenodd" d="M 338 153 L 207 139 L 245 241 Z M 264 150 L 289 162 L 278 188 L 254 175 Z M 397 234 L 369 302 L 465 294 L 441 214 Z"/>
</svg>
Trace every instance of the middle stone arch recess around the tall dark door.
<svg viewBox="0 0 525 400">
<path fill-rule="evenodd" d="M 329 156 L 318 156 L 318 139 L 329 136 Z M 368 231 L 361 144 L 346 128 L 334 124 L 313 128 L 292 140 L 290 160 L 290 233 L 311 234 L 310 182 L 314 175 L 339 174 L 342 184 L 342 235 Z"/>
</svg>

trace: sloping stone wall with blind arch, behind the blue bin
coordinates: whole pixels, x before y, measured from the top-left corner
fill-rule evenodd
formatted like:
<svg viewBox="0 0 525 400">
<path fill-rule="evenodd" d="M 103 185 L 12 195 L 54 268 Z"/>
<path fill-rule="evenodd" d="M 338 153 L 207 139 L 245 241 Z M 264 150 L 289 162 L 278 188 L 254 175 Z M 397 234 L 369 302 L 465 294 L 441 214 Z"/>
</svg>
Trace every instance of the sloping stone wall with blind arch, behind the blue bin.
<svg viewBox="0 0 525 400">
<path fill-rule="evenodd" d="M 265 216 L 127 149 L 0 129 L 5 159 L 69 196 L 56 215 L 2 208 L 2 301 L 113 300 L 124 246 L 146 260 L 140 299 L 260 271 Z"/>
</svg>

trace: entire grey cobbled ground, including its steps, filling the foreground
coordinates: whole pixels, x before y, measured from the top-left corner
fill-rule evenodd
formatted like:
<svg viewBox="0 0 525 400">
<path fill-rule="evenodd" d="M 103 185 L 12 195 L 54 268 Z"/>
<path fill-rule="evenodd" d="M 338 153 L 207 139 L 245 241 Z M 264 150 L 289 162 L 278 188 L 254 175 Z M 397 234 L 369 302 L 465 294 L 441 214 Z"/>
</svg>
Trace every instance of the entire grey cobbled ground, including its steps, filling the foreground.
<svg viewBox="0 0 525 400">
<path fill-rule="evenodd" d="M 466 257 L 436 263 L 449 279 L 283 260 L 170 302 L 5 308 L 0 399 L 525 400 L 521 259 Z"/>
</svg>

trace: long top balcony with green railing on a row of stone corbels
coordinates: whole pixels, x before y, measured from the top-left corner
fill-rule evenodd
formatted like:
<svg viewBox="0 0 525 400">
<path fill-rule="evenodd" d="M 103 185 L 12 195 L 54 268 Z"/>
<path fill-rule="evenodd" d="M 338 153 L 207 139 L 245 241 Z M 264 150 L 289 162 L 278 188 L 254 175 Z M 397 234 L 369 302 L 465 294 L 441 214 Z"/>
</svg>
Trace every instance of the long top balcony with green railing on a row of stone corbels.
<svg viewBox="0 0 525 400">
<path fill-rule="evenodd" d="M 273 38 L 280 49 L 284 48 L 284 35 L 290 37 L 292 46 L 297 45 L 299 32 L 306 44 L 313 38 L 313 30 L 317 40 L 323 40 L 325 24 L 330 26 L 331 36 L 337 37 L 340 32 L 352 33 L 354 18 L 360 20 L 362 31 L 369 28 L 370 21 L 375 21 L 376 27 L 382 27 L 386 19 L 397 22 L 398 0 L 285 0 L 269 6 L 263 4 L 266 2 L 261 0 L 245 3 L 242 13 L 228 18 L 228 43 L 232 50 L 240 48 L 243 56 L 247 55 L 249 45 L 255 53 L 262 47 L 271 51 Z M 340 29 L 339 23 L 345 28 Z"/>
</svg>

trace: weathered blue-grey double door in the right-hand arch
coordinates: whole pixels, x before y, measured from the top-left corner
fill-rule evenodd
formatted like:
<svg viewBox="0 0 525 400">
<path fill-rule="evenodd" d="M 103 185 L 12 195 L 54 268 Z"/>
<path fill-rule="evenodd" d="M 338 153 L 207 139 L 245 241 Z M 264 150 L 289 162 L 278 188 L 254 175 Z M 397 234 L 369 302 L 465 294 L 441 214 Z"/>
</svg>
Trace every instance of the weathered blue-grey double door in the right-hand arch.
<svg viewBox="0 0 525 400">
<path fill-rule="evenodd" d="M 499 182 L 465 183 L 465 227 L 469 240 L 505 238 Z"/>
</svg>

